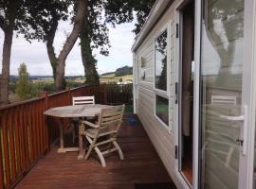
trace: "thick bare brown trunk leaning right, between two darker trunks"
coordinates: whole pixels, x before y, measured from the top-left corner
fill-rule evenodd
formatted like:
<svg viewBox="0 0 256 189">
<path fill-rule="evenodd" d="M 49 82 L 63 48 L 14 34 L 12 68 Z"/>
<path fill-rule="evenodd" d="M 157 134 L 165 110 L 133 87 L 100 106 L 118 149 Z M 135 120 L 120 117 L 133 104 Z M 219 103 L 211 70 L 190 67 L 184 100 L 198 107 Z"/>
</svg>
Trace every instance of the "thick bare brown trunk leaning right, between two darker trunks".
<svg viewBox="0 0 256 189">
<path fill-rule="evenodd" d="M 77 4 L 77 14 L 74 19 L 73 29 L 71 31 L 71 34 L 67 37 L 64 43 L 63 50 L 61 51 L 57 59 L 55 87 L 56 87 L 56 90 L 58 91 L 61 91 L 64 89 L 65 60 L 79 37 L 79 34 L 82 30 L 82 23 L 83 23 L 85 9 L 87 9 L 87 0 L 76 0 L 76 4 Z"/>
</svg>

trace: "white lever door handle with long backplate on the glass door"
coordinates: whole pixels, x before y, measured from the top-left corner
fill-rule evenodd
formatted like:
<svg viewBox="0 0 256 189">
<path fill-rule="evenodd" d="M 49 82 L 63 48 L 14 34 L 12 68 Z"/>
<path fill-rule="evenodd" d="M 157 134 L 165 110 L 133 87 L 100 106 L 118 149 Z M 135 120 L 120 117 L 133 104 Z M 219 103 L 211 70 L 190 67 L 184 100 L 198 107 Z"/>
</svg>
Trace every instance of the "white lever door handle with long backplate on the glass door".
<svg viewBox="0 0 256 189">
<path fill-rule="evenodd" d="M 227 115 L 220 115 L 220 118 L 226 119 L 229 121 L 241 121 L 243 122 L 242 128 L 240 130 L 240 138 L 236 141 L 240 141 L 242 143 L 242 154 L 247 155 L 247 106 L 243 106 L 242 108 L 242 115 L 240 116 L 227 116 Z"/>
</svg>

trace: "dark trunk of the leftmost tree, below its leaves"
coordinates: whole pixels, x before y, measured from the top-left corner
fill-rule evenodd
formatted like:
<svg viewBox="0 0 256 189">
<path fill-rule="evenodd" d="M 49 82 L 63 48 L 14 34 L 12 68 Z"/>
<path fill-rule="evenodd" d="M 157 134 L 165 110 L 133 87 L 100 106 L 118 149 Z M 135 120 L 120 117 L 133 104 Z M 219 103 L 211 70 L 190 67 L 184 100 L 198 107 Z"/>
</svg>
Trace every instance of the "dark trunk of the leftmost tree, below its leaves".
<svg viewBox="0 0 256 189">
<path fill-rule="evenodd" d="M 1 76 L 1 99 L 0 104 L 9 103 L 9 60 L 11 52 L 13 30 L 5 30 L 5 39 L 3 44 L 3 62 Z"/>
</svg>

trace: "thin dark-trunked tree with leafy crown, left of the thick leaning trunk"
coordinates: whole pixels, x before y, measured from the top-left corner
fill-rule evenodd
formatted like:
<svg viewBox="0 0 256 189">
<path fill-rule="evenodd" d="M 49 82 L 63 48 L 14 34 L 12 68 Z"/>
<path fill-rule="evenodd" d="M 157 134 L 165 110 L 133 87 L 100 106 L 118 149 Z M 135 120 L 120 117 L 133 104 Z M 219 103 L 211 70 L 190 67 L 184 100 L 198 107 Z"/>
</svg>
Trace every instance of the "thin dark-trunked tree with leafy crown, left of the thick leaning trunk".
<svg viewBox="0 0 256 189">
<path fill-rule="evenodd" d="M 60 21 L 68 18 L 70 0 L 27 0 L 26 17 L 18 22 L 18 32 L 24 34 L 25 39 L 46 43 L 47 55 L 50 61 L 53 77 L 56 79 L 57 56 L 53 46 L 55 34 Z"/>
</svg>

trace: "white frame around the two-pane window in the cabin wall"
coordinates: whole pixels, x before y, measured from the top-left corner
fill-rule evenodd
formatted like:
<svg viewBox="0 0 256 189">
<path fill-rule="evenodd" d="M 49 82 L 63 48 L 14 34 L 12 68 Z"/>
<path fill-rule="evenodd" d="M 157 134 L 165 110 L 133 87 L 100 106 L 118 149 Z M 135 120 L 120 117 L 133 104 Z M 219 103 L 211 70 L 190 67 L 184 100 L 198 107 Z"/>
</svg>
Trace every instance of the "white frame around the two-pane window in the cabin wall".
<svg viewBox="0 0 256 189">
<path fill-rule="evenodd" d="M 168 22 L 165 26 L 163 26 L 159 32 L 157 32 L 157 34 L 155 35 L 155 38 L 154 38 L 154 43 L 153 43 L 153 49 L 154 49 L 154 53 L 153 53 L 153 60 L 154 60 L 154 63 L 153 63 L 153 66 L 154 66 L 154 69 L 153 69 L 153 89 L 154 89 L 154 115 L 155 115 L 155 118 L 156 120 L 165 128 L 168 130 L 169 133 L 171 133 L 171 131 L 173 130 L 173 128 L 171 127 L 171 123 L 170 123 L 170 91 L 171 91 L 171 74 L 170 74 L 170 66 L 171 66 L 171 51 L 170 51 L 170 48 L 171 48 L 171 35 L 170 35 L 170 32 L 171 32 L 171 23 Z M 155 88 L 155 40 L 164 32 L 164 31 L 167 31 L 167 82 L 166 82 L 166 86 L 167 86 L 167 89 L 166 91 L 164 90 L 160 90 L 160 89 L 157 89 Z M 156 115 L 156 95 L 158 96 L 161 96 L 161 97 L 164 97 L 168 100 L 168 125 L 166 123 L 164 123 L 157 115 Z"/>
</svg>

